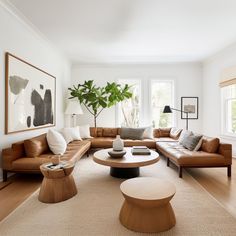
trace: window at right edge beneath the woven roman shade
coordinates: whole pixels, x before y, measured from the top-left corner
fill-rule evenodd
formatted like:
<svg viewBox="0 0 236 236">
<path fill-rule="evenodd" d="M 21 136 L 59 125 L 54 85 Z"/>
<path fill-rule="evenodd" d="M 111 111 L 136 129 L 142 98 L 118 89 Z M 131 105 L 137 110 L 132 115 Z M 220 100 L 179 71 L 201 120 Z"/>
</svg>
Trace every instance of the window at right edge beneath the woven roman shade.
<svg viewBox="0 0 236 236">
<path fill-rule="evenodd" d="M 222 132 L 236 136 L 236 84 L 221 88 Z"/>
</svg>

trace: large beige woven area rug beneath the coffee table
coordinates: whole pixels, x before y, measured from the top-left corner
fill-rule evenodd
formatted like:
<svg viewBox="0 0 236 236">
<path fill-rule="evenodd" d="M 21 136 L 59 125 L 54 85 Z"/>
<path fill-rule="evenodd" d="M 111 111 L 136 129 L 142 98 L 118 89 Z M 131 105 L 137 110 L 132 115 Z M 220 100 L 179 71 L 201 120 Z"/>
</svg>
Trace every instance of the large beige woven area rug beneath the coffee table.
<svg viewBox="0 0 236 236">
<path fill-rule="evenodd" d="M 91 157 L 83 158 L 73 174 L 78 187 L 75 197 L 57 204 L 44 204 L 38 201 L 38 191 L 35 192 L 0 223 L 0 235 L 150 235 L 129 231 L 120 224 L 118 216 L 123 196 L 119 186 L 123 180 L 109 176 L 108 167 L 94 163 Z M 168 180 L 177 189 L 171 201 L 177 224 L 158 235 L 236 235 L 236 219 L 186 172 L 180 179 L 176 169 L 166 167 L 166 162 L 161 160 L 142 167 L 141 176 Z"/>
</svg>

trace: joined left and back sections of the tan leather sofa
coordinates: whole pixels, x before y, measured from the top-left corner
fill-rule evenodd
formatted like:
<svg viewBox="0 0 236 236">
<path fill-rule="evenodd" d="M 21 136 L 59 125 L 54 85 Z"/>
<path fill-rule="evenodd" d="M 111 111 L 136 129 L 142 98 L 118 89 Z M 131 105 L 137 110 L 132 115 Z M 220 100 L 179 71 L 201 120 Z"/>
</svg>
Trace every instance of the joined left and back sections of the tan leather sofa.
<svg viewBox="0 0 236 236">
<path fill-rule="evenodd" d="M 83 141 L 73 141 L 68 144 L 66 153 L 61 160 L 78 161 L 90 148 L 109 148 L 112 147 L 112 141 L 117 134 L 120 134 L 120 128 L 90 128 L 92 139 Z M 153 139 L 143 140 L 124 140 L 125 146 L 145 145 L 149 148 L 156 148 L 156 140 L 168 139 L 175 141 L 179 133 L 171 132 L 170 128 L 155 129 Z M 28 172 L 40 173 L 39 166 L 50 162 L 54 156 L 47 145 L 46 134 L 13 143 L 11 148 L 2 151 L 3 180 L 7 180 L 8 172 Z"/>
</svg>

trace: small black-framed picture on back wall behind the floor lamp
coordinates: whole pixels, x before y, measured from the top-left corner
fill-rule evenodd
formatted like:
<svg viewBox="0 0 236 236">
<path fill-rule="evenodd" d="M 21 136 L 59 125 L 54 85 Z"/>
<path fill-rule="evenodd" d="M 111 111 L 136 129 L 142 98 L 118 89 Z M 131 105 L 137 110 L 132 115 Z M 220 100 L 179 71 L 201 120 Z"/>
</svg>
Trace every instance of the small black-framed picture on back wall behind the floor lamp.
<svg viewBox="0 0 236 236">
<path fill-rule="evenodd" d="M 188 119 L 198 119 L 198 97 L 181 97 L 181 110 L 188 112 Z M 181 119 L 186 119 L 186 113 L 181 112 Z"/>
</svg>

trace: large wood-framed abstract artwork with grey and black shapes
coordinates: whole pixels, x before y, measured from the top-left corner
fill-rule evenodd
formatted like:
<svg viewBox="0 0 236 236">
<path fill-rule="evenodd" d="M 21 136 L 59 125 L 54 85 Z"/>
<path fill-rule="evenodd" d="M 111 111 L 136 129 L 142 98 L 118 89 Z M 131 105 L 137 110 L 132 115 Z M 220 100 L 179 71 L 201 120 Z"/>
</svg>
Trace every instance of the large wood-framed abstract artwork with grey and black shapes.
<svg viewBox="0 0 236 236">
<path fill-rule="evenodd" d="M 6 53 L 5 133 L 55 126 L 56 77 Z"/>
</svg>

